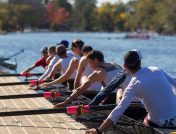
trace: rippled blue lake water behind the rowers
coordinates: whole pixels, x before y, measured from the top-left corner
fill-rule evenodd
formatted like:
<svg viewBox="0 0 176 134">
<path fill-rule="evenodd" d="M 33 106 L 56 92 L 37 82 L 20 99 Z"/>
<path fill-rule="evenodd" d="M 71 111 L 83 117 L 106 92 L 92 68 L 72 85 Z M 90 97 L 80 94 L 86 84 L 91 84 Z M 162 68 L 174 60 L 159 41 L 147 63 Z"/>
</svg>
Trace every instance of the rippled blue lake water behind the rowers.
<svg viewBox="0 0 176 134">
<path fill-rule="evenodd" d="M 24 49 L 24 53 L 16 56 L 17 72 L 20 73 L 41 56 L 42 47 L 54 45 L 63 39 L 71 42 L 79 38 L 94 49 L 101 50 L 107 62 L 121 65 L 123 56 L 128 50 L 139 49 L 143 56 L 143 66 L 159 66 L 176 77 L 176 37 L 155 35 L 151 39 L 142 40 L 123 39 L 124 36 L 125 33 L 11 33 L 0 35 L 0 57 Z M 14 59 L 12 58 L 11 61 Z M 34 72 L 43 72 L 43 69 L 39 67 Z"/>
</svg>

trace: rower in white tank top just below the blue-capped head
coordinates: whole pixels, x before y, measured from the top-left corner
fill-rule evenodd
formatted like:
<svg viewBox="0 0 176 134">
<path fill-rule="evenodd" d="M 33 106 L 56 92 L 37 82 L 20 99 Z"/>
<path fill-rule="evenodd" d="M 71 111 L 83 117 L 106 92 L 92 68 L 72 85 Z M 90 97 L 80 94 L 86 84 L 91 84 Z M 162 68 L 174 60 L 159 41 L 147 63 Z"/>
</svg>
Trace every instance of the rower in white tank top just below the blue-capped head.
<svg viewBox="0 0 176 134">
<path fill-rule="evenodd" d="M 60 59 L 53 66 L 52 71 L 44 80 L 55 79 L 57 74 L 63 75 L 65 71 L 67 70 L 71 59 L 73 58 L 73 56 L 68 56 L 67 50 L 64 45 L 58 45 L 56 49 L 57 49 L 57 54 L 59 55 Z M 74 79 L 75 76 L 76 76 L 76 71 L 72 73 L 72 75 L 68 79 Z"/>
</svg>

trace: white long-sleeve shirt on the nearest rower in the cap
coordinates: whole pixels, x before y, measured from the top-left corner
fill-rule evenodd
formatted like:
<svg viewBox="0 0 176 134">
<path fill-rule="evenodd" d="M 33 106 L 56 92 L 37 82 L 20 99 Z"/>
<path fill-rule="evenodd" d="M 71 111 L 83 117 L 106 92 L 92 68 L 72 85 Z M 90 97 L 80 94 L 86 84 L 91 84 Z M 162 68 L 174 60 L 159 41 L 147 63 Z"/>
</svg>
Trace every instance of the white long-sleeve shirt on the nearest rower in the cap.
<svg viewBox="0 0 176 134">
<path fill-rule="evenodd" d="M 176 96 L 172 88 L 176 88 L 176 81 L 160 68 L 141 68 L 132 76 L 122 100 L 108 118 L 117 121 L 133 97 L 138 97 L 144 102 L 149 120 L 171 119 L 176 116 Z"/>
</svg>

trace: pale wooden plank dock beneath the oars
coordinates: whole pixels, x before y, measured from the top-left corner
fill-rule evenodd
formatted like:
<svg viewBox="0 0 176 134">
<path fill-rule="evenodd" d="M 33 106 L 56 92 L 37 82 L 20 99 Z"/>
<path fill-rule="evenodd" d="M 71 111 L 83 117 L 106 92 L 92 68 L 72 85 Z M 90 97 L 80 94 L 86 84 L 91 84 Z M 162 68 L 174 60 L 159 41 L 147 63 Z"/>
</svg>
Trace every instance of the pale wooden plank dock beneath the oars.
<svg viewBox="0 0 176 134">
<path fill-rule="evenodd" d="M 16 77 L 0 78 L 0 83 L 19 81 Z M 1 95 L 34 93 L 27 86 L 0 87 Z M 0 100 L 0 112 L 52 108 L 45 98 Z M 65 113 L 0 117 L 1 134 L 84 134 L 86 126 Z"/>
</svg>

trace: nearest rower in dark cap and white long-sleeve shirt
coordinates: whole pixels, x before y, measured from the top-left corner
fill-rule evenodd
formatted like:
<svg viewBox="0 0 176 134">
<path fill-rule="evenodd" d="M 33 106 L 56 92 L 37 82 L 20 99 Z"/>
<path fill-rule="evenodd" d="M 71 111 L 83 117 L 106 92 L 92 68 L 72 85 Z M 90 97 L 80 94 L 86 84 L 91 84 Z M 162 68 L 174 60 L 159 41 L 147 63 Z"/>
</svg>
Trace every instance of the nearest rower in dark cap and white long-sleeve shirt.
<svg viewBox="0 0 176 134">
<path fill-rule="evenodd" d="M 140 98 L 148 112 L 144 124 L 153 127 L 176 128 L 176 81 L 156 66 L 141 67 L 141 58 L 135 51 L 124 56 L 124 68 L 132 75 L 122 100 L 97 129 L 86 134 L 102 133 L 116 122 L 134 97 Z"/>
</svg>

